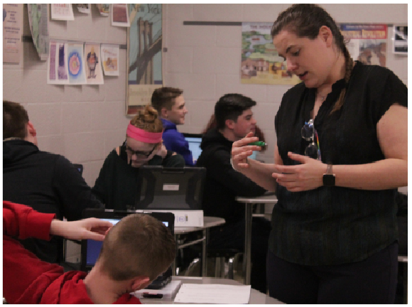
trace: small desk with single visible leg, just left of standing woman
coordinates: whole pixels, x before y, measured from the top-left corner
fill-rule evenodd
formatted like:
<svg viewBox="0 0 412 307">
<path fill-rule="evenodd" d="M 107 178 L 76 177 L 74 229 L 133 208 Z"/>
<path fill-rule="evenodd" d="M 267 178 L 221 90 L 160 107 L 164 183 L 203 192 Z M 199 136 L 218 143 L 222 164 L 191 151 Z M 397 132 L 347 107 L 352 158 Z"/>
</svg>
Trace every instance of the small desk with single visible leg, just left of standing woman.
<svg viewBox="0 0 412 307">
<path fill-rule="evenodd" d="M 278 203 L 276 195 L 263 195 L 256 198 L 237 197 L 236 200 L 245 204 L 245 229 L 244 229 L 244 256 L 243 256 L 243 270 L 244 284 L 250 284 L 251 271 L 251 217 L 254 204 L 260 203 Z"/>
</svg>

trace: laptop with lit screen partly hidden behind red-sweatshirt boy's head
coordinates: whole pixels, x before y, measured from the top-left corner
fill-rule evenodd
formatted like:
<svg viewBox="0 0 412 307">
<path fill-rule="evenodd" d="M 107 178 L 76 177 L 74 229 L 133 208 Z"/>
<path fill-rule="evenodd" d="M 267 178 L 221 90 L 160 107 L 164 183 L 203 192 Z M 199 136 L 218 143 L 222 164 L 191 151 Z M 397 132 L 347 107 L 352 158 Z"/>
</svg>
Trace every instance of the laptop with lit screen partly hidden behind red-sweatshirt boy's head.
<svg viewBox="0 0 412 307">
<path fill-rule="evenodd" d="M 94 209 L 94 208 L 87 208 L 82 212 L 82 218 L 88 217 L 97 217 L 102 220 L 108 220 L 112 222 L 114 225 L 119 222 L 123 217 L 126 215 L 134 214 L 134 213 L 141 213 L 141 214 L 148 214 L 153 217 L 156 217 L 158 220 L 163 222 L 168 230 L 174 235 L 175 230 L 175 215 L 171 212 L 134 212 L 134 211 L 116 211 L 116 210 L 102 210 L 102 209 Z M 94 241 L 92 239 L 84 239 L 82 240 L 82 247 L 81 247 L 81 264 L 80 269 L 82 271 L 89 272 L 94 264 L 96 264 L 97 258 L 100 254 L 100 249 L 102 249 L 103 242 Z M 170 264 L 169 268 L 166 272 L 159 275 L 157 279 L 155 279 L 150 285 L 146 287 L 146 289 L 161 289 L 163 286 L 166 286 L 172 280 L 172 265 Z"/>
</svg>

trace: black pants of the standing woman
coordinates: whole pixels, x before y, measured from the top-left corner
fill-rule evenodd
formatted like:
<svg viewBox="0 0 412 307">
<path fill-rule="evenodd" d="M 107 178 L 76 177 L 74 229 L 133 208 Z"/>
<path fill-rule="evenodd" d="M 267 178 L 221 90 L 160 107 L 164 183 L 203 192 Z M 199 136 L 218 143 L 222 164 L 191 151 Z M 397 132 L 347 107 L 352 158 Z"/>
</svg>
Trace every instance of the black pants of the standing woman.
<svg viewBox="0 0 412 307">
<path fill-rule="evenodd" d="M 349 264 L 304 266 L 268 252 L 269 295 L 283 303 L 394 303 L 398 243 Z"/>
</svg>

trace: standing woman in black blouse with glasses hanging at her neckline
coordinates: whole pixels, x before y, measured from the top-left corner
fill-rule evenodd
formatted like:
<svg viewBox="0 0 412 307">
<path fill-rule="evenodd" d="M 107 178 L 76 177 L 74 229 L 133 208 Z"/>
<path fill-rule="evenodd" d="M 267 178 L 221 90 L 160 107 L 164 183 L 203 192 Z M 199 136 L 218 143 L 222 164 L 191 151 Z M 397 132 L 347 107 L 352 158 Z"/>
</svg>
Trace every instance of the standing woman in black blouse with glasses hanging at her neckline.
<svg viewBox="0 0 412 307">
<path fill-rule="evenodd" d="M 391 70 L 354 62 L 329 14 L 314 4 L 283 11 L 273 44 L 300 84 L 275 117 L 275 163 L 232 165 L 276 190 L 269 293 L 285 303 L 394 303 L 396 189 L 408 185 L 407 87 Z"/>
</svg>

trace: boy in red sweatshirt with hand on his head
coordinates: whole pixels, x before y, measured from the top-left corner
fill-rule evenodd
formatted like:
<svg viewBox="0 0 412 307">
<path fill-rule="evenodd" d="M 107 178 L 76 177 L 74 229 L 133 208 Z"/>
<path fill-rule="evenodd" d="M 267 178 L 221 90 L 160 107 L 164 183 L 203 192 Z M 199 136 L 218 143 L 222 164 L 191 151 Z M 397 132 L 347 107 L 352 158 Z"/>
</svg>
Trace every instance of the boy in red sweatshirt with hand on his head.
<svg viewBox="0 0 412 307">
<path fill-rule="evenodd" d="M 95 218 L 63 222 L 54 217 L 3 202 L 3 295 L 7 303 L 140 303 L 129 293 L 146 288 L 175 259 L 173 235 L 150 215 L 128 215 L 116 225 Z M 52 235 L 103 241 L 89 274 L 63 273 L 63 267 L 40 261 L 13 239 L 47 240 Z"/>
</svg>

